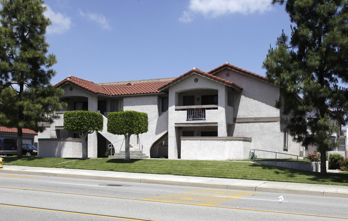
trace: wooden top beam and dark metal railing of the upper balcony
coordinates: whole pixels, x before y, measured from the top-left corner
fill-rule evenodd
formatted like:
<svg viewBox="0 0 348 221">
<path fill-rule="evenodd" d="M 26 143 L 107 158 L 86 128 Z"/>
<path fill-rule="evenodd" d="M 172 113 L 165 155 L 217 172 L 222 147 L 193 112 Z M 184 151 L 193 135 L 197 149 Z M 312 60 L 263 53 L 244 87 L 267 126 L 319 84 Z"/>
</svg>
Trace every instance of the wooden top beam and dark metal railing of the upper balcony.
<svg viewBox="0 0 348 221">
<path fill-rule="evenodd" d="M 206 110 L 217 110 L 217 105 L 176 106 L 176 111 L 186 111 L 186 120 L 206 120 Z"/>
</svg>

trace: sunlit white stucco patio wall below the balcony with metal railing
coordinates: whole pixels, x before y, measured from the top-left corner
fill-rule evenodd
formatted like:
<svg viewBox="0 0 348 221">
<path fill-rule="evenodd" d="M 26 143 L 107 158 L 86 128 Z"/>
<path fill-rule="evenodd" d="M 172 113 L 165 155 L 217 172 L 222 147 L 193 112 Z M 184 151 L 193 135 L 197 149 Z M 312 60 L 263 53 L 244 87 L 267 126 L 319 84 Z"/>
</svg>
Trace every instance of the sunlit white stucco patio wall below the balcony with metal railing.
<svg viewBox="0 0 348 221">
<path fill-rule="evenodd" d="M 181 159 L 248 159 L 250 147 L 248 137 L 181 137 Z"/>
</svg>

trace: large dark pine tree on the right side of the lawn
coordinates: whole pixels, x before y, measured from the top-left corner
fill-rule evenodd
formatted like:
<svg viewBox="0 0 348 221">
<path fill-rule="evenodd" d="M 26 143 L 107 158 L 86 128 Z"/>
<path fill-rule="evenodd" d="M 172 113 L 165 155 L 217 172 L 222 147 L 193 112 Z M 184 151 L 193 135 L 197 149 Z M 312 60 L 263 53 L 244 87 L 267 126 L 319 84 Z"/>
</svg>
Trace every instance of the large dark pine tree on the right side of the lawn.
<svg viewBox="0 0 348 221">
<path fill-rule="evenodd" d="M 294 23 L 291 39 L 282 33 L 277 47 L 268 51 L 263 67 L 268 79 L 282 88 L 277 107 L 291 115 L 287 128 L 304 147 L 316 145 L 321 153 L 321 174 L 326 174 L 326 151 L 338 131 L 328 117 L 333 109 L 347 117 L 348 1 L 272 0 L 285 4 Z M 345 119 L 347 121 L 347 118 Z"/>
</svg>

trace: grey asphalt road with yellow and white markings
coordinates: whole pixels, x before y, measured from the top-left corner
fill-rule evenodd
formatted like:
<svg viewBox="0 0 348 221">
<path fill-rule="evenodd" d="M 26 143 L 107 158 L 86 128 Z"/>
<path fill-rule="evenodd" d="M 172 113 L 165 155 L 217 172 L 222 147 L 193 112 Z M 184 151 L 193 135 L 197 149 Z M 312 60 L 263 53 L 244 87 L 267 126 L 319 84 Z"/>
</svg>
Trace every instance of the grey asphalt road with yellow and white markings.
<svg viewBox="0 0 348 221">
<path fill-rule="evenodd" d="M 337 197 L 6 173 L 0 191 L 7 221 L 348 219 L 347 199 Z"/>
</svg>

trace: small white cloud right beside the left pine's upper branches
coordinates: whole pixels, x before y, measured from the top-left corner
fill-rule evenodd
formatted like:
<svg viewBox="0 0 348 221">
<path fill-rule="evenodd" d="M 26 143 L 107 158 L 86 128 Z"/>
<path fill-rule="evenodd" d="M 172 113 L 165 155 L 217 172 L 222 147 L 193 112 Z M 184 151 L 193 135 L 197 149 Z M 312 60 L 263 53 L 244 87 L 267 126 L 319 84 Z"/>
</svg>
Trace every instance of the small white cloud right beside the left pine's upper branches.
<svg viewBox="0 0 348 221">
<path fill-rule="evenodd" d="M 52 34 L 52 33 L 58 33 L 61 34 L 66 30 L 70 29 L 71 25 L 71 18 L 62 15 L 61 13 L 57 12 L 55 13 L 50 7 L 47 7 L 47 10 L 45 11 L 44 15 L 49 18 L 52 22 L 52 25 L 47 26 L 47 33 Z"/>
</svg>

